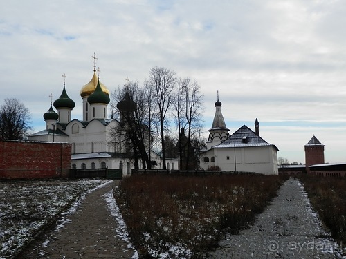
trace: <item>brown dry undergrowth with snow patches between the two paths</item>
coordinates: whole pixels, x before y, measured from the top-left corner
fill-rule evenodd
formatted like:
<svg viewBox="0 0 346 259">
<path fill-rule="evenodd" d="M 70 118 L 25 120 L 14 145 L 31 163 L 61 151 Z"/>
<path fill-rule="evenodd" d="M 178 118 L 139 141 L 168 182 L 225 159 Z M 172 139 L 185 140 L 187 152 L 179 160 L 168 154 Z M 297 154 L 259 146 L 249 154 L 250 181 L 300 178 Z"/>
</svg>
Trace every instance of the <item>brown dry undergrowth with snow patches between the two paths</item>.
<svg viewBox="0 0 346 259">
<path fill-rule="evenodd" d="M 201 258 L 224 233 L 253 222 L 282 180 L 275 175 L 133 175 L 115 196 L 142 258 Z"/>
</svg>

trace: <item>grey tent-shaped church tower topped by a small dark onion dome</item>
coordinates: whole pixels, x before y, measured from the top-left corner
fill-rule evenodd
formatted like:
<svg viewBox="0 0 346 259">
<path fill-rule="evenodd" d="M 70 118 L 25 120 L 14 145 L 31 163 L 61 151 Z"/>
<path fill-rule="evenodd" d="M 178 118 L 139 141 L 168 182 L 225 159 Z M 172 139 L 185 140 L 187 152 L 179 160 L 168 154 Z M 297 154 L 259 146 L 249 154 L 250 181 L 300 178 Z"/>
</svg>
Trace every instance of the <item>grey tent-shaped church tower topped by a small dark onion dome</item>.
<svg viewBox="0 0 346 259">
<path fill-rule="evenodd" d="M 207 148 L 211 148 L 217 144 L 220 144 L 226 140 L 230 134 L 230 130 L 226 127 L 224 116 L 221 113 L 222 103 L 219 101 L 219 91 L 217 92 L 217 102 L 215 102 L 215 115 L 212 121 L 212 128 L 209 131 L 209 137 L 207 141 Z"/>
</svg>

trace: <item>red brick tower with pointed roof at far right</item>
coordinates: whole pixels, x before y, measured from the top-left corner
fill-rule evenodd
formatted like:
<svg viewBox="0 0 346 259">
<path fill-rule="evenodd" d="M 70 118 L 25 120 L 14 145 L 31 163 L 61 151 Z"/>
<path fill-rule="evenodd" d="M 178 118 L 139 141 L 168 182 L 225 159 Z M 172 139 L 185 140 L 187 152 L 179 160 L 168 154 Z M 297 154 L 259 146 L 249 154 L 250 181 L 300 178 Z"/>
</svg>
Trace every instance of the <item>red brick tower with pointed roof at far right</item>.
<svg viewBox="0 0 346 259">
<path fill-rule="evenodd" d="M 325 164 L 325 145 L 313 135 L 311 140 L 304 146 L 305 166 L 309 171 L 309 166 L 313 164 Z"/>
</svg>

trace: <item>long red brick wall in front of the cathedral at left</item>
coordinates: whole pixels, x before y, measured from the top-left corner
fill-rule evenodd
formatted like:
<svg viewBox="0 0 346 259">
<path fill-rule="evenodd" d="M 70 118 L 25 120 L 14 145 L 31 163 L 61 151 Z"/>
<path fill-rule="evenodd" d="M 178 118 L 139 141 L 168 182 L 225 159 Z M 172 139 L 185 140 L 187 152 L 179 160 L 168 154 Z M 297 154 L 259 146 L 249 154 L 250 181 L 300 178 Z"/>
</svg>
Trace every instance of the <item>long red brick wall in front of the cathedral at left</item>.
<svg viewBox="0 0 346 259">
<path fill-rule="evenodd" d="M 0 141 L 0 178 L 69 176 L 71 144 Z"/>
</svg>

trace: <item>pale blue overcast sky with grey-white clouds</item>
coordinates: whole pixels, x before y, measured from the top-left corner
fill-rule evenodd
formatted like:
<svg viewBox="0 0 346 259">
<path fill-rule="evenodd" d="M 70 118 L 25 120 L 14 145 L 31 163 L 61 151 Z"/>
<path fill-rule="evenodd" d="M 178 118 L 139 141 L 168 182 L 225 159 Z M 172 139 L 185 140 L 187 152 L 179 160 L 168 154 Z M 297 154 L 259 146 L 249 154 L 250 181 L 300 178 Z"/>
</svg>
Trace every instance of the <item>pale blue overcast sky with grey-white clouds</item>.
<svg viewBox="0 0 346 259">
<path fill-rule="evenodd" d="M 304 164 L 315 135 L 325 162 L 346 161 L 346 1 L 11 0 L 0 9 L 1 99 L 25 104 L 35 131 L 53 93 L 82 119 L 93 75 L 113 91 L 163 66 L 198 81 L 208 136 L 217 100 L 230 133 L 243 124 Z"/>
</svg>

